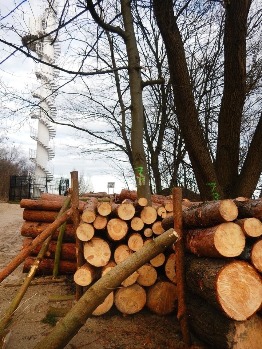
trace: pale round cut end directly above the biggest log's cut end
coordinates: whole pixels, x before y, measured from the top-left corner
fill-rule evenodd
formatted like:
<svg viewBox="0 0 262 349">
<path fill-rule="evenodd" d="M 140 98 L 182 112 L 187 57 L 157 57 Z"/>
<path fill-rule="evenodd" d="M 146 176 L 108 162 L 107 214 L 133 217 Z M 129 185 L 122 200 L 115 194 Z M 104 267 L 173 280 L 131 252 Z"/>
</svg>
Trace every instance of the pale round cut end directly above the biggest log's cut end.
<svg viewBox="0 0 262 349">
<path fill-rule="evenodd" d="M 238 256 L 245 247 L 245 234 L 235 223 L 222 223 L 214 236 L 214 246 L 224 257 Z"/>
</svg>

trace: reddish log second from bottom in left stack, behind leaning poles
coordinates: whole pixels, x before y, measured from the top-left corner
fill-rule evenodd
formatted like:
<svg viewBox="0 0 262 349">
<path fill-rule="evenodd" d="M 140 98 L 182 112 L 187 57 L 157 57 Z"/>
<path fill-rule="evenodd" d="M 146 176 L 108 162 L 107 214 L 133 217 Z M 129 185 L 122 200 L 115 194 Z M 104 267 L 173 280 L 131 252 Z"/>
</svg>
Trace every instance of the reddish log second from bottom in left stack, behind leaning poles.
<svg viewBox="0 0 262 349">
<path fill-rule="evenodd" d="M 30 246 L 34 240 L 31 238 L 27 238 L 23 241 L 22 249 Z M 57 242 L 51 240 L 48 246 L 48 250 L 46 251 L 44 257 L 45 258 L 51 258 L 54 259 L 54 256 L 56 254 L 56 245 Z M 39 245 L 34 250 L 30 252 L 31 256 L 37 256 L 42 245 Z M 75 255 L 75 244 L 72 243 L 63 243 L 61 247 L 61 253 L 60 253 L 60 259 L 64 260 L 70 260 L 75 261 L 76 255 Z"/>
</svg>

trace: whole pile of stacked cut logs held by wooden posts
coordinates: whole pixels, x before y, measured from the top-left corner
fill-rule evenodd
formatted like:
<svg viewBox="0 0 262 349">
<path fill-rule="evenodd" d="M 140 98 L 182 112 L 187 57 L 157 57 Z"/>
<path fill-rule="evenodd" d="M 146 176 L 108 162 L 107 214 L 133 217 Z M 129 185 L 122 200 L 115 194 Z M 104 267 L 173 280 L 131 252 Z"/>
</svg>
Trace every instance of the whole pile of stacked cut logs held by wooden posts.
<svg viewBox="0 0 262 349">
<path fill-rule="evenodd" d="M 21 201 L 26 221 L 21 230 L 22 236 L 27 237 L 24 246 L 53 222 L 63 201 L 64 197 L 50 194 L 43 194 L 38 201 Z M 111 197 L 110 202 L 99 202 L 95 197 L 86 203 L 80 201 L 77 236 L 83 241 L 86 263 L 76 270 L 72 222 L 67 222 L 60 272 L 74 272 L 75 282 L 88 286 L 150 239 L 174 227 L 172 197 L 152 195 L 152 203 L 153 206 L 148 207 L 146 199 L 138 200 L 135 191 L 126 190 L 115 195 L 114 200 Z M 183 200 L 182 205 L 192 329 L 206 338 L 211 347 L 220 345 L 214 339 L 217 331 L 217 336 L 222 336 L 225 342 L 220 348 L 249 348 L 248 340 L 241 341 L 241 347 L 235 343 L 238 342 L 236 336 L 241 337 L 247 328 L 247 337 L 262 340 L 262 331 L 252 330 L 262 326 L 261 318 L 255 315 L 262 305 L 262 201 L 237 198 L 194 203 Z M 39 267 L 42 273 L 52 273 L 56 238 L 57 232 Z M 36 255 L 37 250 L 32 254 Z M 122 283 L 124 287 L 112 291 L 94 315 L 107 312 L 113 303 L 124 314 L 135 313 L 145 305 L 160 315 L 172 312 L 177 297 L 175 258 L 175 250 L 166 251 L 139 268 Z M 27 258 L 24 272 L 33 260 L 33 257 Z M 195 320 L 198 312 L 205 314 L 202 317 L 207 323 L 218 313 L 224 319 L 225 328 L 218 326 L 213 328 L 212 335 L 204 335 L 209 331 L 208 325 L 203 320 L 201 326 Z M 252 326 L 247 325 L 251 322 Z"/>
</svg>

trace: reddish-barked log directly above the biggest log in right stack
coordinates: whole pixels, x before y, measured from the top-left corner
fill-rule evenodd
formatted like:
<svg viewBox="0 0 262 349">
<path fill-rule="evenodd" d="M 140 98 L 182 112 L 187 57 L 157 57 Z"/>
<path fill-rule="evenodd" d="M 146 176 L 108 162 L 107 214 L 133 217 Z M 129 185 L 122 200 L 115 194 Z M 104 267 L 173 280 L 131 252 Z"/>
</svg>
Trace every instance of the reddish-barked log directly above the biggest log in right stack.
<svg viewBox="0 0 262 349">
<path fill-rule="evenodd" d="M 243 251 L 245 241 L 242 229 L 232 222 L 184 232 L 185 250 L 204 257 L 236 257 Z"/>
</svg>

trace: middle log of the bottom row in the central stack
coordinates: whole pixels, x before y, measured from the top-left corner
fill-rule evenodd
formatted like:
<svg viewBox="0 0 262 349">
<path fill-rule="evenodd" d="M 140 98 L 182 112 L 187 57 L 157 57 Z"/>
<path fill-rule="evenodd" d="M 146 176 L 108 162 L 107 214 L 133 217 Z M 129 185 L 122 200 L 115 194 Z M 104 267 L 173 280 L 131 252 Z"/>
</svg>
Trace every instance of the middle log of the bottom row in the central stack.
<svg viewBox="0 0 262 349">
<path fill-rule="evenodd" d="M 134 314 L 143 309 L 146 304 L 146 292 L 138 284 L 116 290 L 114 302 L 123 314 Z"/>
</svg>

